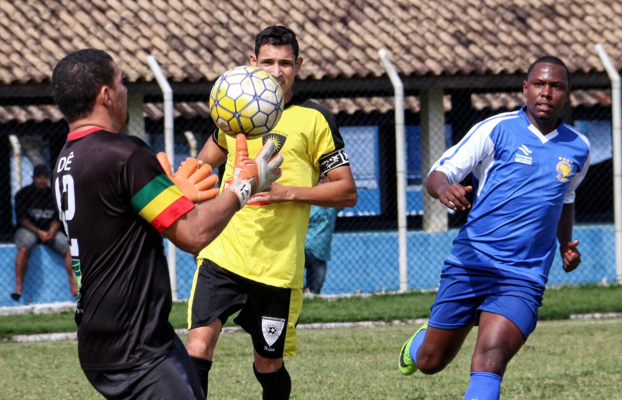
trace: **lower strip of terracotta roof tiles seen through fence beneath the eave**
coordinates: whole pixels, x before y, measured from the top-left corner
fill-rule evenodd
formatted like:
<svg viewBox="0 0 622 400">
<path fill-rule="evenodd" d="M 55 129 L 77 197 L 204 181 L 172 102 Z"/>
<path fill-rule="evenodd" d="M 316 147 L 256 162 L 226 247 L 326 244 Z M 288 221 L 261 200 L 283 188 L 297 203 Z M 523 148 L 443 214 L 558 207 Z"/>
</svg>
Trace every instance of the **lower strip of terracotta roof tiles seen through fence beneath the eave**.
<svg viewBox="0 0 622 400">
<path fill-rule="evenodd" d="M 394 108 L 393 97 L 328 98 L 313 99 L 313 101 L 327 107 L 335 115 L 340 112 L 348 115 L 356 112 L 387 113 Z M 522 92 L 479 93 L 471 94 L 471 102 L 476 110 L 482 110 L 483 108 L 516 110 L 524 104 L 524 98 L 522 97 Z M 610 90 L 575 90 L 570 94 L 570 105 L 572 107 L 577 105 L 587 107 L 602 105 L 608 107 L 611 105 L 611 92 Z M 452 109 L 450 95 L 445 95 L 443 106 L 446 112 Z M 415 113 L 419 112 L 419 98 L 415 96 L 404 97 L 404 107 L 406 110 L 411 110 Z M 210 110 L 207 102 L 175 102 L 173 115 L 175 118 L 210 118 Z M 144 117 L 151 118 L 152 120 L 163 118 L 162 103 L 145 103 Z M 24 123 L 26 121 L 45 120 L 55 122 L 62 120 L 62 118 L 62 113 L 55 105 L 0 105 L 0 123 L 9 121 Z"/>
</svg>

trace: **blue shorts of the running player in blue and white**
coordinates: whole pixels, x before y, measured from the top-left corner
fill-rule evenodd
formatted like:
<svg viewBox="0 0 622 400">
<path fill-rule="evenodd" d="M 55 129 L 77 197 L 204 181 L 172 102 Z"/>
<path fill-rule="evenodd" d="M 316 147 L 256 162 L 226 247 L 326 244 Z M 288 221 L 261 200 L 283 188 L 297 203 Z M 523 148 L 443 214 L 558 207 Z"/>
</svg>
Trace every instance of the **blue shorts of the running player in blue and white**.
<svg viewBox="0 0 622 400">
<path fill-rule="evenodd" d="M 428 325 L 439 329 L 477 325 L 480 313 L 486 311 L 508 318 L 527 340 L 536 328 L 542 293 L 544 287 L 522 275 L 445 262 Z"/>
</svg>

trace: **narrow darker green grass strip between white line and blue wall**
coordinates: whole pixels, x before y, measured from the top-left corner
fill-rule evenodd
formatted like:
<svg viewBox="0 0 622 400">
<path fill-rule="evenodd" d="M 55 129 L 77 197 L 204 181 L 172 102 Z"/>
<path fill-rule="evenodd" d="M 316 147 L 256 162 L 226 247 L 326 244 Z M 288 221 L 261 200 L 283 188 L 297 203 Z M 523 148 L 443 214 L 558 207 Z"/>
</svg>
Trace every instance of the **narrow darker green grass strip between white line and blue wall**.
<svg viewBox="0 0 622 400">
<path fill-rule="evenodd" d="M 392 321 L 426 318 L 434 302 L 434 292 L 400 295 L 372 295 L 349 298 L 305 298 L 300 323 L 343 321 Z M 170 322 L 175 328 L 187 327 L 187 303 L 173 304 Z M 596 285 L 548 288 L 540 309 L 540 320 L 569 318 L 573 313 L 622 312 L 622 286 Z M 233 325 L 233 318 L 227 326 Z M 0 338 L 32 333 L 75 331 L 72 312 L 47 315 L 9 315 L 0 317 Z"/>
</svg>

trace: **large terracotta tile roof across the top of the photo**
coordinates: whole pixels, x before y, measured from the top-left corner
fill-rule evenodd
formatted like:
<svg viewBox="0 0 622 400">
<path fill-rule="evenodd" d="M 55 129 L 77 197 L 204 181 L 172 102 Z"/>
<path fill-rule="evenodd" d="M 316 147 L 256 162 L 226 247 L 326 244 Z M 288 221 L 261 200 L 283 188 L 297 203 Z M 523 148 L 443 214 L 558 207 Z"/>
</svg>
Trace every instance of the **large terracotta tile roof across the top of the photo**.
<svg viewBox="0 0 622 400">
<path fill-rule="evenodd" d="M 522 73 L 545 53 L 602 71 L 598 42 L 622 69 L 619 0 L 13 0 L 0 16 L 0 84 L 46 82 L 83 47 L 108 51 L 129 82 L 154 79 L 148 54 L 174 82 L 211 82 L 271 24 L 297 32 L 302 79 L 379 77 L 382 47 L 404 76 Z"/>
</svg>

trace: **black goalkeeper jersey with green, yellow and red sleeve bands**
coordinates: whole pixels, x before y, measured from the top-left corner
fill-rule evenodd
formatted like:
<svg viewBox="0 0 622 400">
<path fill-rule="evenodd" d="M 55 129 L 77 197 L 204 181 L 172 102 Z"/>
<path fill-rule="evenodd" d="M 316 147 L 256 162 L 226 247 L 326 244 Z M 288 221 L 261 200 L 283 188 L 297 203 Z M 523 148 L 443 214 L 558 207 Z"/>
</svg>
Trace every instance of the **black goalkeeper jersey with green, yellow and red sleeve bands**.
<svg viewBox="0 0 622 400">
<path fill-rule="evenodd" d="M 171 290 L 161 232 L 194 205 L 144 141 L 72 133 L 52 188 L 70 239 L 83 369 L 131 368 L 169 351 Z"/>
</svg>

